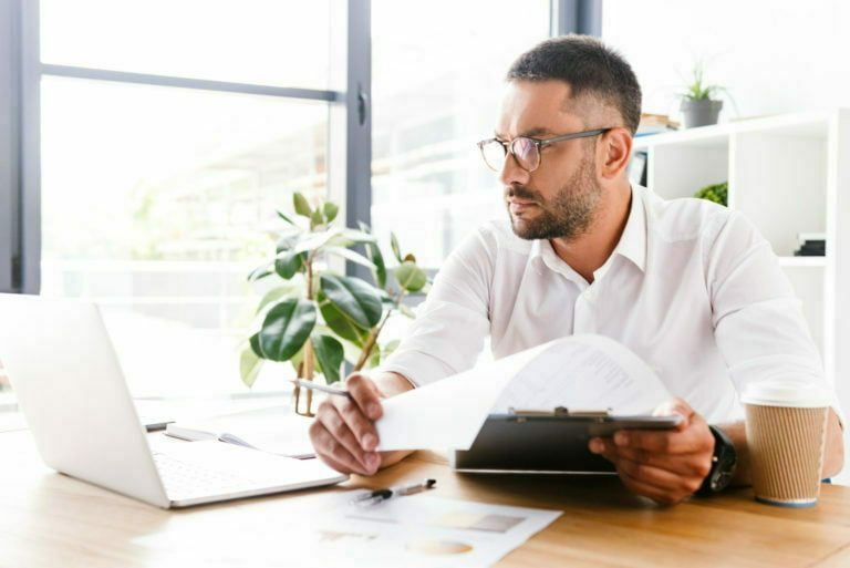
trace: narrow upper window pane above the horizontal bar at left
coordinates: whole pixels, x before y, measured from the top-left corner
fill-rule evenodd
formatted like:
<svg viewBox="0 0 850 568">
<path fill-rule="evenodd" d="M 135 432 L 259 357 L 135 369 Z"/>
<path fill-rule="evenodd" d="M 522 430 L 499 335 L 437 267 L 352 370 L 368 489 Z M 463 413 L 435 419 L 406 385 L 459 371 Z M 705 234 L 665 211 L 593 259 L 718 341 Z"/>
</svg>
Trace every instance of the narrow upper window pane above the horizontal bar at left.
<svg viewBox="0 0 850 568">
<path fill-rule="evenodd" d="M 41 61 L 328 89 L 332 0 L 41 0 Z"/>
</svg>

